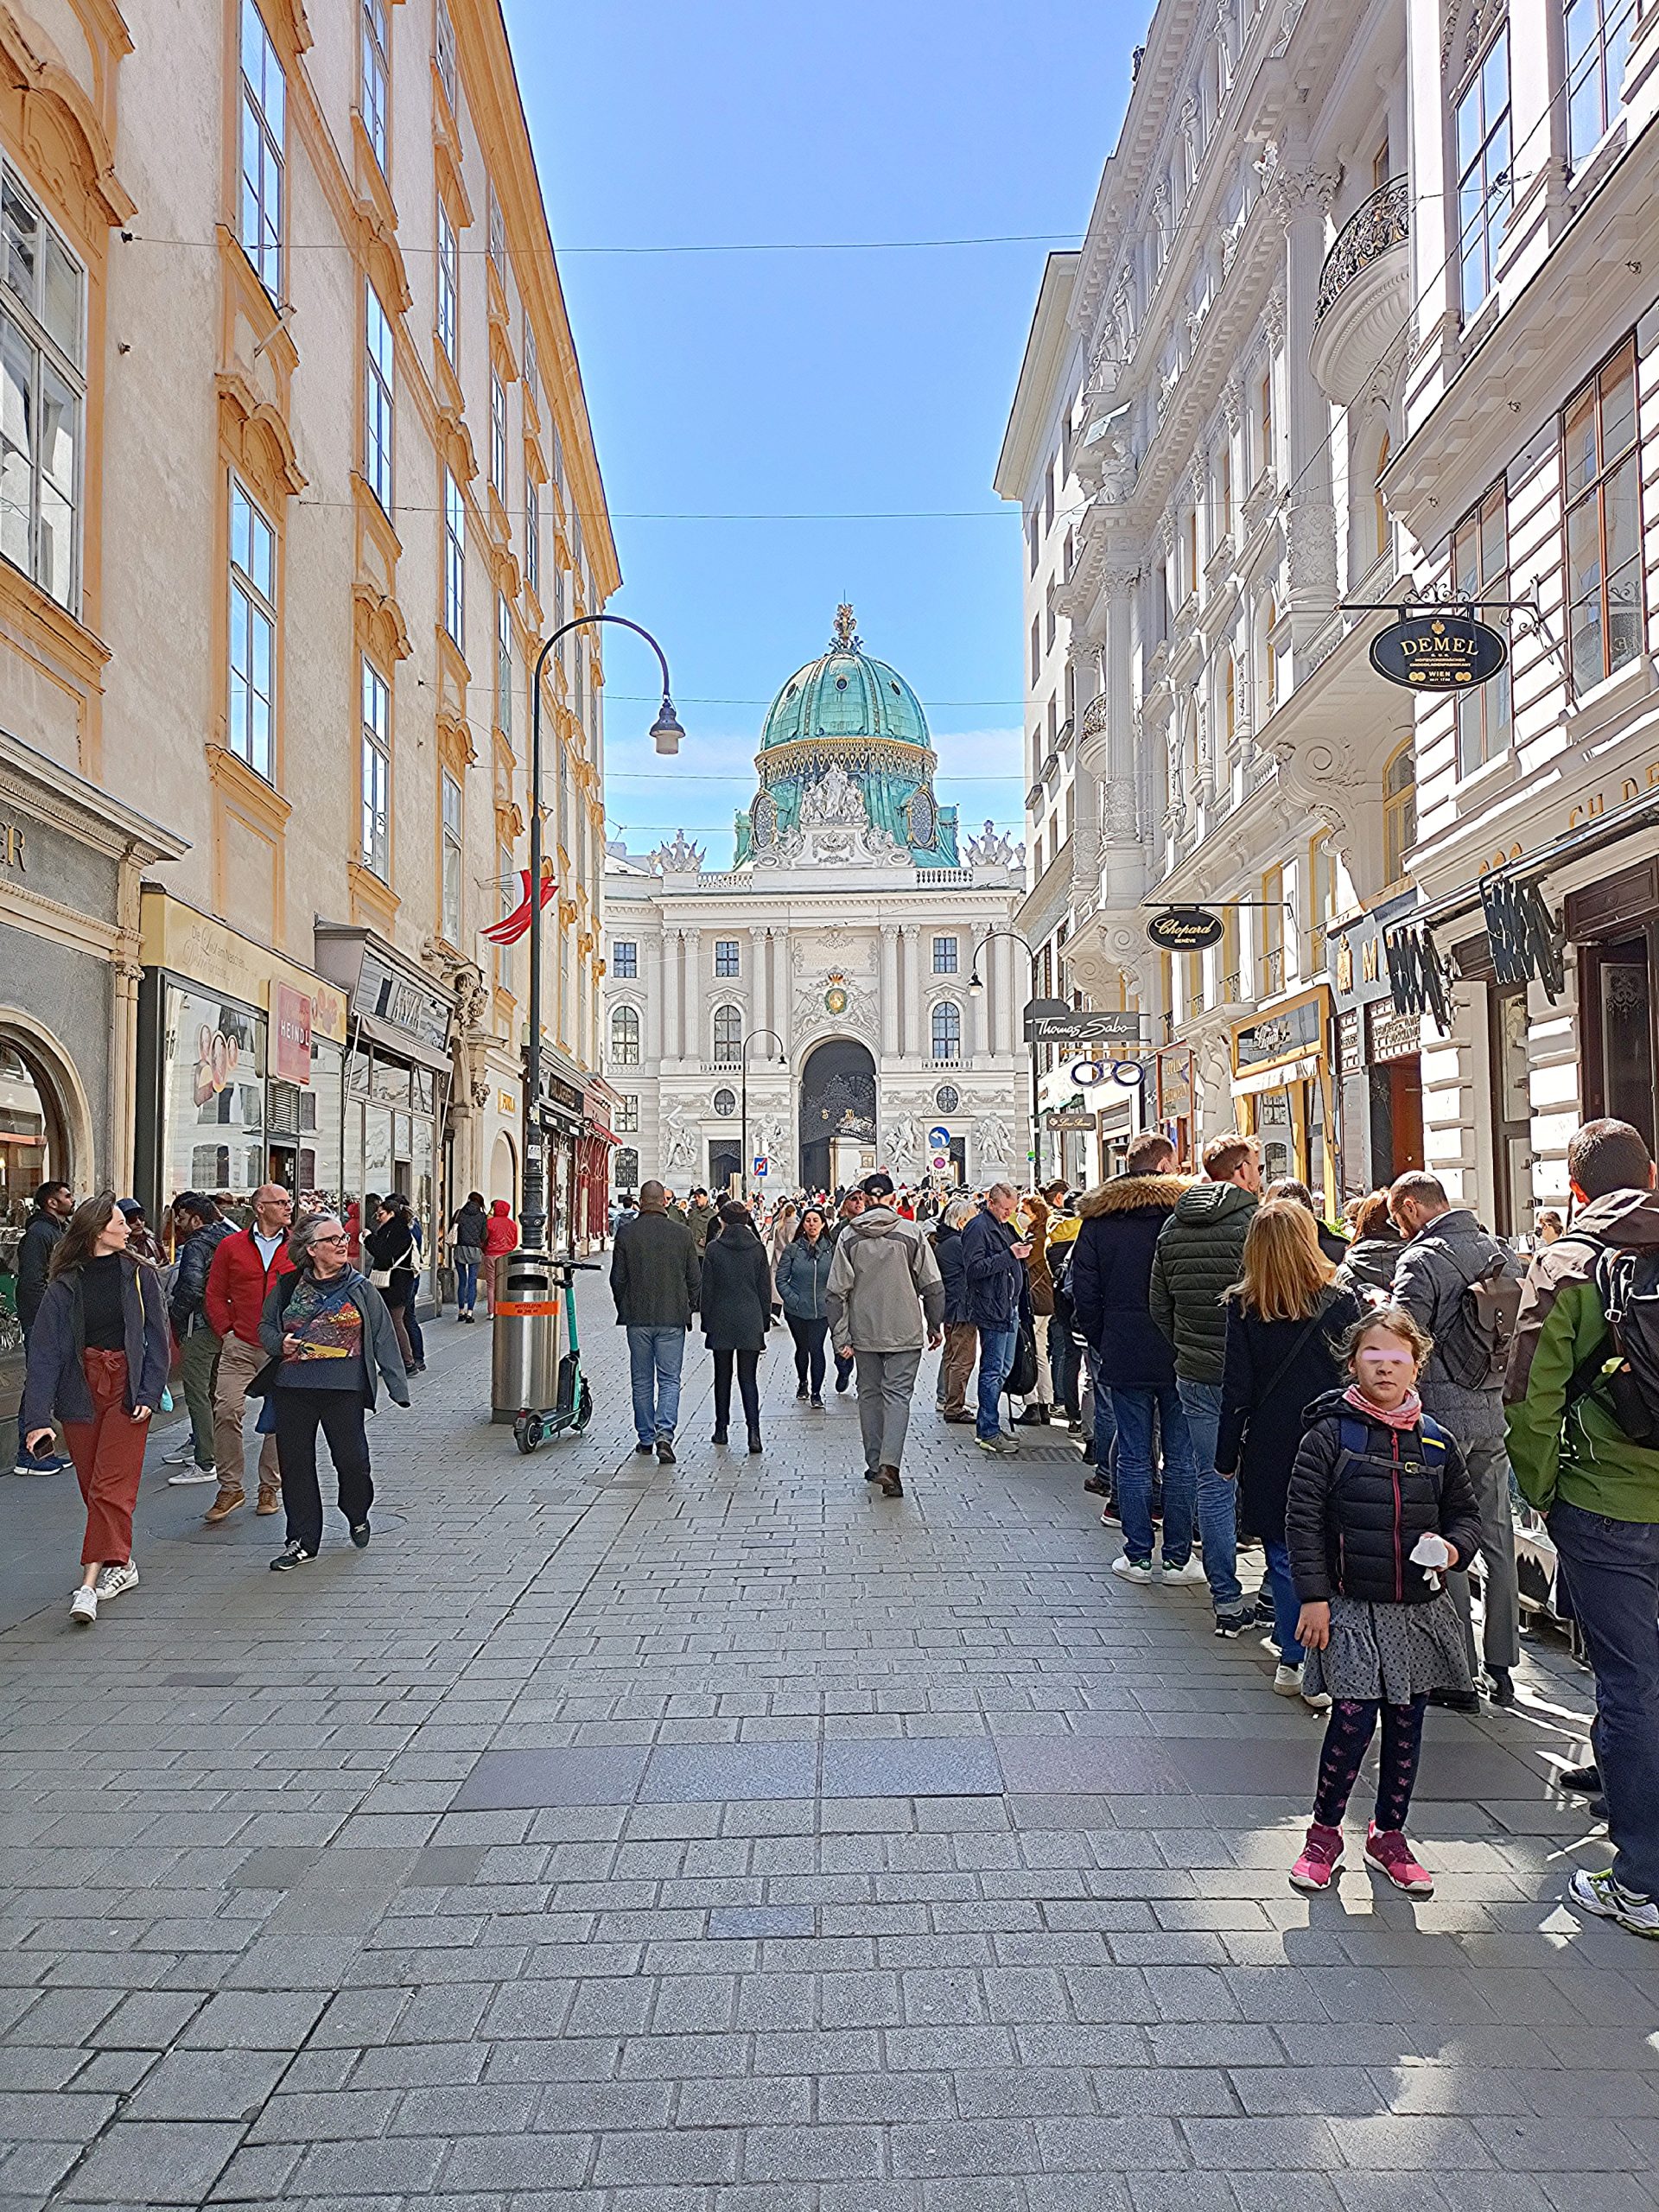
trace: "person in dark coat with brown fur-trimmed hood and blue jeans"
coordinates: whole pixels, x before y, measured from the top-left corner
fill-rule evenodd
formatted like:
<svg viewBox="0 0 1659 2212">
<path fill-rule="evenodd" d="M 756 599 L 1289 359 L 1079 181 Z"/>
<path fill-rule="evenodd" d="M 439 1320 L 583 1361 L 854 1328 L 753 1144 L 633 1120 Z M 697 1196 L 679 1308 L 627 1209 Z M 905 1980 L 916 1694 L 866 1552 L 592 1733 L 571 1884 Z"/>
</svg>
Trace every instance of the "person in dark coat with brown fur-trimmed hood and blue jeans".
<svg viewBox="0 0 1659 2212">
<path fill-rule="evenodd" d="M 1117 1422 L 1117 1506 L 1124 1520 L 1124 1557 L 1113 1573 L 1126 1582 L 1152 1579 L 1152 1422 L 1164 1436 L 1164 1579 L 1201 1582 L 1192 1559 L 1197 1460 L 1175 1387 L 1170 1340 L 1152 1321 L 1148 1285 L 1152 1252 L 1175 1212 L 1186 1177 L 1175 1172 L 1175 1146 L 1157 1130 L 1128 1148 L 1124 1175 L 1086 1190 L 1077 1201 L 1082 1228 L 1071 1261 L 1068 1290 L 1077 1327 L 1088 1343 L 1095 1398 L 1110 1391 Z"/>
</svg>

